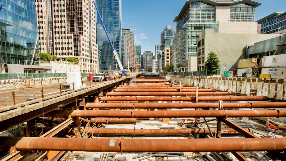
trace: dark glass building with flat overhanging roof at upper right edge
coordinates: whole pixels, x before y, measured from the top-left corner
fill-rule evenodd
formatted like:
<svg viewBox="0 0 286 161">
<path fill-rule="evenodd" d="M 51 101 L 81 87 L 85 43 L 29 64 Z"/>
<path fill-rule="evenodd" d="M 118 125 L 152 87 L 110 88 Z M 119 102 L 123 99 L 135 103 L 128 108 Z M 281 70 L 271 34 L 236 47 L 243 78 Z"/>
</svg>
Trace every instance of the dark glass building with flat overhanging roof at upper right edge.
<svg viewBox="0 0 286 161">
<path fill-rule="evenodd" d="M 286 12 L 274 12 L 256 21 L 261 25 L 261 34 L 276 34 L 286 31 Z"/>
</svg>

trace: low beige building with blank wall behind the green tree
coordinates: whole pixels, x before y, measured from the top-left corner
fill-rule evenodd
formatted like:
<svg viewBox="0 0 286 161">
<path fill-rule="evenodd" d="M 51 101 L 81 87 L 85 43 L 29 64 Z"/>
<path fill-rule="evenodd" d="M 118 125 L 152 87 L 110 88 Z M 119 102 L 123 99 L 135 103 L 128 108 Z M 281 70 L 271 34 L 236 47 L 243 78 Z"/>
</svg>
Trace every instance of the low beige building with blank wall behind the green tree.
<svg viewBox="0 0 286 161">
<path fill-rule="evenodd" d="M 246 58 L 247 45 L 254 45 L 275 35 L 278 34 L 217 34 L 214 29 L 205 29 L 198 38 L 197 70 L 203 70 L 211 51 L 221 61 L 221 74 L 223 71 L 237 70 L 238 59 Z"/>
</svg>

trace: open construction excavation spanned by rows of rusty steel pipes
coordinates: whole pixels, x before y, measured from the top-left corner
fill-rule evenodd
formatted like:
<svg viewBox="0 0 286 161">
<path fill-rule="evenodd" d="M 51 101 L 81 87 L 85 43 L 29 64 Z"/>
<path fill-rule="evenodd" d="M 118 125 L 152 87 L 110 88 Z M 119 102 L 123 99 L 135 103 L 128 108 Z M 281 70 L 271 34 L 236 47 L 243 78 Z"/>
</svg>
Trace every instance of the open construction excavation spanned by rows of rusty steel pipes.
<svg viewBox="0 0 286 161">
<path fill-rule="evenodd" d="M 184 79 L 195 78 L 27 87 L 37 97 L 23 93 L 14 104 L 12 91 L 1 92 L 1 104 L 11 104 L 0 108 L 1 160 L 285 160 L 284 100 L 177 81 Z"/>
</svg>

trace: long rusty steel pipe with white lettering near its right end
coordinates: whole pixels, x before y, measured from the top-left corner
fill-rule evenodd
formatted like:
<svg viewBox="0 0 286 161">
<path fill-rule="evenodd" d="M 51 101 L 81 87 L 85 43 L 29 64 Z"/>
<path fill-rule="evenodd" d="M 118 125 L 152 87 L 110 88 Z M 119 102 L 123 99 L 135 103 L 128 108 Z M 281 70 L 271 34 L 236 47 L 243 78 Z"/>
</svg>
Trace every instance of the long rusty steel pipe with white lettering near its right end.
<svg viewBox="0 0 286 161">
<path fill-rule="evenodd" d="M 271 104 L 268 104 L 271 107 Z M 284 103 L 286 105 L 286 102 Z M 218 108 L 219 103 L 87 103 L 85 108 Z M 251 103 L 223 103 L 223 108 L 251 108 Z M 285 106 L 284 106 L 285 107 Z M 282 108 L 282 107 L 278 107 Z"/>
</svg>

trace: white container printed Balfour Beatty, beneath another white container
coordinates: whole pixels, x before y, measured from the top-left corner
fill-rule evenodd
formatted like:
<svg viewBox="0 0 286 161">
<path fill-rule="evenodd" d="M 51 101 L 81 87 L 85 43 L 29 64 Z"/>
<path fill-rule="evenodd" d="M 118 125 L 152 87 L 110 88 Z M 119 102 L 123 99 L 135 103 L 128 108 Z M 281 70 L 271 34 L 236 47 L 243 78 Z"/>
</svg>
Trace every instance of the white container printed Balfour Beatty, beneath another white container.
<svg viewBox="0 0 286 161">
<path fill-rule="evenodd" d="M 262 68 L 261 74 L 270 74 L 273 79 L 286 79 L 286 67 Z"/>
</svg>

